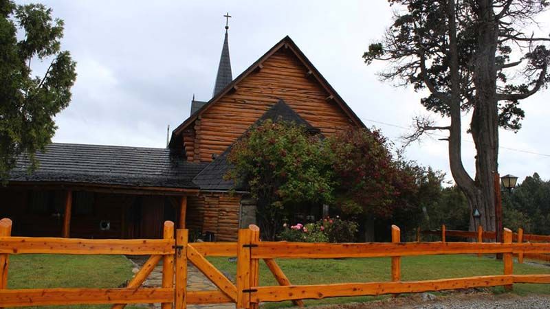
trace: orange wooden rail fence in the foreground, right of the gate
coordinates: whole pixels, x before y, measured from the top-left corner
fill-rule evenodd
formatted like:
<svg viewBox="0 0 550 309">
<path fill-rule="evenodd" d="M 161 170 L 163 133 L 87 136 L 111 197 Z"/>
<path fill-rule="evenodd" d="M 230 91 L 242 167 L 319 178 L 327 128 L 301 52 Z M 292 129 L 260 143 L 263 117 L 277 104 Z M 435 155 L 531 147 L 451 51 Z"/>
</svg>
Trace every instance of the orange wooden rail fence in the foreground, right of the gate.
<svg viewBox="0 0 550 309">
<path fill-rule="evenodd" d="M 443 229 L 444 231 L 444 229 Z M 445 231 L 450 235 L 450 231 Z M 245 233 L 245 232 L 243 232 Z M 452 234 L 452 233 L 451 233 Z M 445 234 L 443 234 L 445 235 Z M 261 242 L 250 241 L 250 245 L 239 246 L 243 255 L 250 260 L 273 258 L 374 258 L 391 257 L 391 282 L 316 284 L 308 286 L 254 286 L 246 282 L 243 286 L 243 303 L 259 304 L 262 301 L 284 301 L 293 299 L 322 299 L 325 297 L 348 297 L 398 293 L 419 293 L 434 290 L 473 288 L 483 286 L 505 286 L 511 289 L 514 283 L 550 283 L 550 275 L 514 275 L 514 253 L 550 253 L 550 243 L 513 243 L 512 232 L 504 229 L 503 243 L 475 242 L 399 242 L 399 228 L 392 227 L 391 243 L 304 243 L 304 242 Z M 396 243 L 397 242 L 397 243 Z M 250 251 L 250 253 L 248 252 Z M 503 253 L 504 275 L 464 277 L 403 282 L 401 281 L 402 256 L 440 255 L 461 253 Z M 240 292 L 241 290 L 239 290 Z M 239 307 L 245 308 L 245 307 Z"/>
</svg>

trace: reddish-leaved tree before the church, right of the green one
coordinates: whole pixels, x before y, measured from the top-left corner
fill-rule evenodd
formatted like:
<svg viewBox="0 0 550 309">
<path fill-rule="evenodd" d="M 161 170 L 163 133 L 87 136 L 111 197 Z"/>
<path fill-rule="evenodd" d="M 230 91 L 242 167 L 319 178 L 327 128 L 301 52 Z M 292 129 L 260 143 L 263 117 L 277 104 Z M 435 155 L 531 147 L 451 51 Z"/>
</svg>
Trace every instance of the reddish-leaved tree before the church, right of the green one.
<svg viewBox="0 0 550 309">
<path fill-rule="evenodd" d="M 346 130 L 328 140 L 336 173 L 337 205 L 344 214 L 362 218 L 365 238 L 374 240 L 375 220 L 396 209 L 406 212 L 415 191 L 415 174 L 391 155 L 380 131 Z"/>
</svg>

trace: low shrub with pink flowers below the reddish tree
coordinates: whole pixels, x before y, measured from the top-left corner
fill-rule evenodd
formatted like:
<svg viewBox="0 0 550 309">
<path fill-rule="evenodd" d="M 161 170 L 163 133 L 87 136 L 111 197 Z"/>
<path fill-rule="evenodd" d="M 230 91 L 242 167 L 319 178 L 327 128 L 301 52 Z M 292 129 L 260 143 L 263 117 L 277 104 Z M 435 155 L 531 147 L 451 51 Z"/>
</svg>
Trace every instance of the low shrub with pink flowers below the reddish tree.
<svg viewBox="0 0 550 309">
<path fill-rule="evenodd" d="M 327 217 L 314 223 L 283 225 L 278 238 L 289 242 L 353 242 L 358 224 L 342 220 L 340 217 Z"/>
</svg>

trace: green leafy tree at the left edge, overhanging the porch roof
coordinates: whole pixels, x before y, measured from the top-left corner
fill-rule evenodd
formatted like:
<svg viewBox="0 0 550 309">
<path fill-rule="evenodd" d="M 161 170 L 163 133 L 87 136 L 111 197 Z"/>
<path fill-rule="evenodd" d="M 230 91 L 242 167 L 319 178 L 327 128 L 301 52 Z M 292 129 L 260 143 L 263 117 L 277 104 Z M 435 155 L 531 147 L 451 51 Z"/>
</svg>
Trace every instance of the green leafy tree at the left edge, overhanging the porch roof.
<svg viewBox="0 0 550 309">
<path fill-rule="evenodd" d="M 20 32 L 18 32 L 18 28 Z M 21 39 L 19 39 L 21 38 Z M 42 4 L 0 0 L 0 180 L 7 179 L 17 156 L 51 142 L 52 119 L 71 100 L 76 63 L 61 51 L 63 21 Z M 32 76 L 32 62 L 49 61 L 43 76 Z"/>
</svg>

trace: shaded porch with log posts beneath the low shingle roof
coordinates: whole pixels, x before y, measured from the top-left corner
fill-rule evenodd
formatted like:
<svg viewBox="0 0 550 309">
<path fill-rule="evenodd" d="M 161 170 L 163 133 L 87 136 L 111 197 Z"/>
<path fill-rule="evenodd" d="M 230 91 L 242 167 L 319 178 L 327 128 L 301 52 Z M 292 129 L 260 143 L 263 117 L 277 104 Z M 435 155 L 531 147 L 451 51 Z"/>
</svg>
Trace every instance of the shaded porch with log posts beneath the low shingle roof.
<svg viewBox="0 0 550 309">
<path fill-rule="evenodd" d="M 187 198 L 196 194 L 164 188 L 15 184 L 0 189 L 0 217 L 12 219 L 14 236 L 162 238 L 165 220 L 186 228 Z"/>
</svg>

